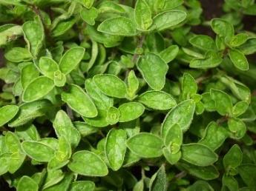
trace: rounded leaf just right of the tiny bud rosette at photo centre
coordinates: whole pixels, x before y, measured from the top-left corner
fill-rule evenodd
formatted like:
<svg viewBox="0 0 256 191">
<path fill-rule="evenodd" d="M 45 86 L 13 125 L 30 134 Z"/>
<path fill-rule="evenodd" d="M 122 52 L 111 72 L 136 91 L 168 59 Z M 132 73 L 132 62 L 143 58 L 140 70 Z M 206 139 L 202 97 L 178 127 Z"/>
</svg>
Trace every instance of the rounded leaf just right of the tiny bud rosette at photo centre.
<svg viewBox="0 0 256 191">
<path fill-rule="evenodd" d="M 118 107 L 119 122 L 132 121 L 144 113 L 145 107 L 139 102 L 128 102 Z"/>
</svg>

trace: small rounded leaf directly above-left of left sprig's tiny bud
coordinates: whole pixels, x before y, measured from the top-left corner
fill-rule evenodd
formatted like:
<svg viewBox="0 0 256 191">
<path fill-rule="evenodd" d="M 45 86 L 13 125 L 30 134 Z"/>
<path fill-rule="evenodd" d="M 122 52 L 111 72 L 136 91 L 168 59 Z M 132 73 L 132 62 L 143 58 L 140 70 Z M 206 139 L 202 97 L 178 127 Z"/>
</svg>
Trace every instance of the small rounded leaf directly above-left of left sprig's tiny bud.
<svg viewBox="0 0 256 191">
<path fill-rule="evenodd" d="M 59 70 L 59 65 L 53 58 L 42 56 L 39 60 L 39 70 L 44 76 L 53 79 L 54 73 Z"/>
</svg>

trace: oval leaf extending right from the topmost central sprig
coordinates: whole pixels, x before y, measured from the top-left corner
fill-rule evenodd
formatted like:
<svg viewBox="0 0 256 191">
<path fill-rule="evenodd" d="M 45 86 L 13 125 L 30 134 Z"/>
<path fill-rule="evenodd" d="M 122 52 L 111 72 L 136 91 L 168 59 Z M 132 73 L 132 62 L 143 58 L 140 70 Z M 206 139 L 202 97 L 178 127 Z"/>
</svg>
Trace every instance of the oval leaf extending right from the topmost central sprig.
<svg viewBox="0 0 256 191">
<path fill-rule="evenodd" d="M 184 21 L 186 16 L 186 12 L 182 10 L 167 10 L 163 13 L 159 13 L 154 17 L 153 24 L 149 30 L 160 31 L 174 27 Z"/>
</svg>

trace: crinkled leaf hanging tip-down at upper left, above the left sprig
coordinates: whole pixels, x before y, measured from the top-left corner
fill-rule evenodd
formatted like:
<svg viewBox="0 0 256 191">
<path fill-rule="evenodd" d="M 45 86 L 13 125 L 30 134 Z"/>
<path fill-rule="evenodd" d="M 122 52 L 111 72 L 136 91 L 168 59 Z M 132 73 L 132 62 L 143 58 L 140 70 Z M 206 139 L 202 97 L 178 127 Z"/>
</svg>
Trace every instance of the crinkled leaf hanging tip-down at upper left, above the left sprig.
<svg viewBox="0 0 256 191">
<path fill-rule="evenodd" d="M 33 58 L 36 58 L 45 39 L 45 31 L 42 22 L 39 17 L 36 17 L 35 21 L 26 21 L 22 26 L 22 30 L 28 50 L 30 50 Z"/>
</svg>

